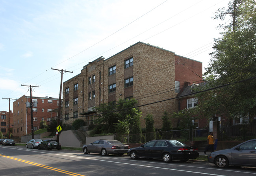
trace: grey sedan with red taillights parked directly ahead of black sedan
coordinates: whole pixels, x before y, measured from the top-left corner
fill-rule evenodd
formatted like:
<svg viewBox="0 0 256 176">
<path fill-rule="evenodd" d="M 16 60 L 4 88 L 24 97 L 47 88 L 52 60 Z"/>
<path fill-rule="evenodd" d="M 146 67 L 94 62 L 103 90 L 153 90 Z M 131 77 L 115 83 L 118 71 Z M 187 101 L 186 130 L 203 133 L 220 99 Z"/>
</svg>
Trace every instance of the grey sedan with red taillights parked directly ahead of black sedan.
<svg viewBox="0 0 256 176">
<path fill-rule="evenodd" d="M 89 145 L 84 145 L 82 147 L 82 151 L 84 154 L 99 153 L 102 154 L 102 156 L 107 156 L 108 154 L 118 154 L 121 156 L 126 153 L 129 148 L 129 145 L 125 145 L 117 140 L 100 139 Z"/>
</svg>

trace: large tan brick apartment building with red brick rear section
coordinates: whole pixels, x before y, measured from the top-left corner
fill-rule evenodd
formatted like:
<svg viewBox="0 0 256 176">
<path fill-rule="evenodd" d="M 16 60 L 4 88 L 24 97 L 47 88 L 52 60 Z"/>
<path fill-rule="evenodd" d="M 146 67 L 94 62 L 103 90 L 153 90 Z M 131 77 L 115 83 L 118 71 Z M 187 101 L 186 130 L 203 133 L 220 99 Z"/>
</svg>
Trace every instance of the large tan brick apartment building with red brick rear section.
<svg viewBox="0 0 256 176">
<path fill-rule="evenodd" d="M 143 128 L 147 114 L 153 115 L 155 128 L 162 128 L 164 111 L 178 111 L 175 97 L 185 82 L 202 82 L 201 62 L 138 42 L 108 59 L 89 62 L 80 74 L 63 82 L 63 122 L 83 119 L 89 124 L 95 106 L 119 98 L 135 98 L 138 106 L 174 98 L 139 107 Z"/>
</svg>

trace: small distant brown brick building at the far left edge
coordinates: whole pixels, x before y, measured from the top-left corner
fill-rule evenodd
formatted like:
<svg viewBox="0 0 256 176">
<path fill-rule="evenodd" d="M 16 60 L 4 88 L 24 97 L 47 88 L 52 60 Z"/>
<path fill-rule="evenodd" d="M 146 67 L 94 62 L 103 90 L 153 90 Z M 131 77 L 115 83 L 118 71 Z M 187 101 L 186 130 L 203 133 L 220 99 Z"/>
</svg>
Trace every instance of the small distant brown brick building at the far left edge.
<svg viewBox="0 0 256 176">
<path fill-rule="evenodd" d="M 1 116 L 1 132 L 3 133 L 4 137 L 9 137 L 7 136 L 7 133 L 9 131 L 9 112 L 7 111 L 0 111 L 0 116 Z M 10 111 L 10 124 L 13 124 L 13 113 Z M 11 130 L 12 126 L 10 126 Z"/>
</svg>

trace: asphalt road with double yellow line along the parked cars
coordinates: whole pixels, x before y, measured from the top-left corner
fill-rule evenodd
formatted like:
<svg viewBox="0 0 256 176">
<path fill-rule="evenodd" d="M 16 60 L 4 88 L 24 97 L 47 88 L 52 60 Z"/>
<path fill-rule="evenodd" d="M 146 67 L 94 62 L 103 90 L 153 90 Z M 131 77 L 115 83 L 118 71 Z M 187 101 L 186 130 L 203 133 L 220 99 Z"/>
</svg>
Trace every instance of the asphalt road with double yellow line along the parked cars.
<svg viewBox="0 0 256 176">
<path fill-rule="evenodd" d="M 0 175 L 11 176 L 256 176 L 256 168 L 218 169 L 206 161 L 132 160 L 128 156 L 83 154 L 82 150 L 38 150 L 0 146 Z"/>
</svg>

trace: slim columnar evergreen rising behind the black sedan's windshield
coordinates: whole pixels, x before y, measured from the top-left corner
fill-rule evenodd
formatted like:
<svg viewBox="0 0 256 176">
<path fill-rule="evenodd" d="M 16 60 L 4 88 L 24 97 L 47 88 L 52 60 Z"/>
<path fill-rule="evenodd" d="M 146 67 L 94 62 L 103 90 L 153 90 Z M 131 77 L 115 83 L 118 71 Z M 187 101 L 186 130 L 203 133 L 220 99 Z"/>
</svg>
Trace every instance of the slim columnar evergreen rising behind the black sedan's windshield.
<svg viewBox="0 0 256 176">
<path fill-rule="evenodd" d="M 156 139 L 156 130 L 154 127 L 154 119 L 152 114 L 148 114 L 145 118 L 146 124 L 146 141 Z"/>
</svg>

